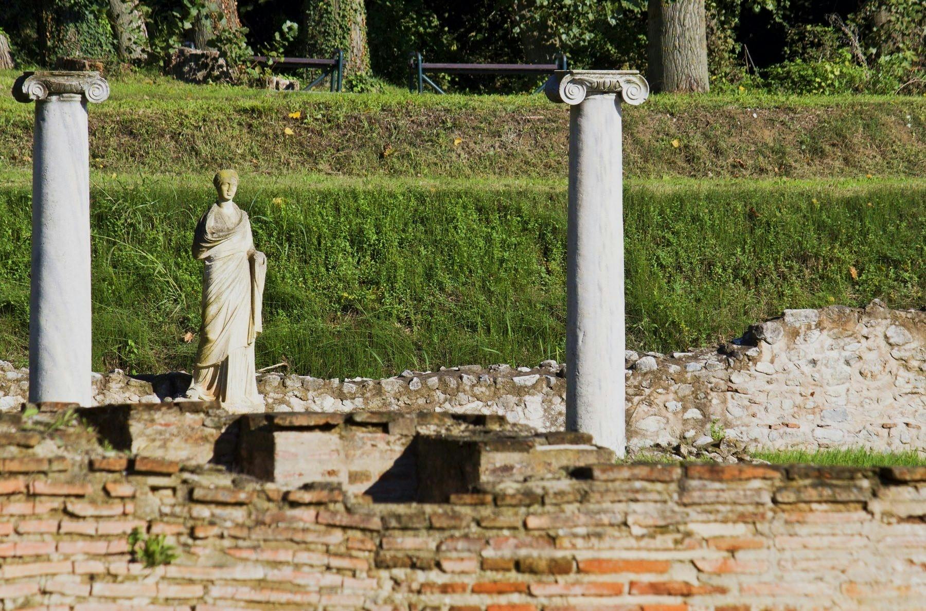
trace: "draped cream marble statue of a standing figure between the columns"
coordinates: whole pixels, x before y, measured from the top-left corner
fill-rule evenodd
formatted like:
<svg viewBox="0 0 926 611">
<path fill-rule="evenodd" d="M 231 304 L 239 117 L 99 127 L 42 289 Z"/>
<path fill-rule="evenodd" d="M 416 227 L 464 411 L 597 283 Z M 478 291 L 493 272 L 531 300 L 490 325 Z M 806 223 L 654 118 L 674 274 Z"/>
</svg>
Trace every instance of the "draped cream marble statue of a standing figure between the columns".
<svg viewBox="0 0 926 611">
<path fill-rule="evenodd" d="M 205 264 L 203 322 L 186 396 L 219 401 L 232 411 L 259 411 L 254 340 L 262 330 L 267 257 L 255 250 L 251 221 L 232 199 L 238 173 L 220 170 L 213 183 L 219 196 L 196 224 L 193 240 L 193 256 Z"/>
</svg>

